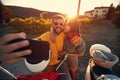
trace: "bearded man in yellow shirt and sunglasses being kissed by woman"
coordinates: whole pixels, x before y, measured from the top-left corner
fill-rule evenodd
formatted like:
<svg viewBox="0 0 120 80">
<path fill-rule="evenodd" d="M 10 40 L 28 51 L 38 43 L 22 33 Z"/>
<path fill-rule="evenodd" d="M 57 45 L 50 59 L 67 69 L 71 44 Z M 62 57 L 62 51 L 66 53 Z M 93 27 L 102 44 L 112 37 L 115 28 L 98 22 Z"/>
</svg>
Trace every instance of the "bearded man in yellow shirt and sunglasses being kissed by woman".
<svg viewBox="0 0 120 80">
<path fill-rule="evenodd" d="M 59 53 L 63 51 L 64 24 L 65 24 L 65 18 L 62 15 L 55 15 L 52 19 L 52 26 L 50 31 L 43 33 L 41 36 L 35 38 L 36 40 L 45 40 L 50 43 L 52 56 L 46 70 L 56 69 L 56 67 L 60 63 L 60 59 L 58 57 L 59 57 Z M 65 65 L 62 65 L 60 68 L 62 68 L 63 66 Z M 71 80 L 68 69 L 66 68 L 64 71 L 67 74 L 66 76 L 64 76 L 64 79 Z M 63 80 L 63 77 L 62 77 L 62 80 Z"/>
</svg>

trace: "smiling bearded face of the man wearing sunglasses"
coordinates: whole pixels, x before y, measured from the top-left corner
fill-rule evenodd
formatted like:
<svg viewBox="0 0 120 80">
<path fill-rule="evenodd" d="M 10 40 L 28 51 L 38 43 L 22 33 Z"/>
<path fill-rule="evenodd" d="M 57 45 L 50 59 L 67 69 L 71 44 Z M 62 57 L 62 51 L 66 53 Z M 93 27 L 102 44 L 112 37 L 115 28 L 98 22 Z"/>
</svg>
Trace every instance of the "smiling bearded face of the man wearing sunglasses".
<svg viewBox="0 0 120 80">
<path fill-rule="evenodd" d="M 64 29 L 64 23 L 65 21 L 63 19 L 54 19 L 52 24 L 54 33 L 60 34 Z"/>
</svg>

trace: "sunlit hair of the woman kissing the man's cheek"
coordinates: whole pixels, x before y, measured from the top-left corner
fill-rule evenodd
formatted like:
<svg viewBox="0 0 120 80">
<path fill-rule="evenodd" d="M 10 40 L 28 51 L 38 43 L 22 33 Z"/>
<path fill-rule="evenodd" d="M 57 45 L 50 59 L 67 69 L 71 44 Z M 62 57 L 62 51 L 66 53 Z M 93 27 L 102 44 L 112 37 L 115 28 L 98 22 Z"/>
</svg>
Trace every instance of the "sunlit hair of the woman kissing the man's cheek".
<svg viewBox="0 0 120 80">
<path fill-rule="evenodd" d="M 76 17 L 75 18 L 68 18 L 66 20 L 66 24 L 68 24 L 71 27 L 71 29 L 70 29 L 71 33 L 75 33 L 75 32 L 80 33 L 80 24 L 79 24 L 79 21 Z"/>
</svg>

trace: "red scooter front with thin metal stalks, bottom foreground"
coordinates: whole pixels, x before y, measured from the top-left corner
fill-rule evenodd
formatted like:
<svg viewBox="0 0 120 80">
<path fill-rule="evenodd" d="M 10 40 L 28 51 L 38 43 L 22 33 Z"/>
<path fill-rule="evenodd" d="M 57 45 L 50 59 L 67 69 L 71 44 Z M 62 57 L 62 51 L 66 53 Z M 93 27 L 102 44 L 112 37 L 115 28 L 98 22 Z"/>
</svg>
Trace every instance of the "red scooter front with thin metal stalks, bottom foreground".
<svg viewBox="0 0 120 80">
<path fill-rule="evenodd" d="M 65 55 L 64 59 L 60 62 L 55 70 L 50 70 L 48 72 L 38 73 L 35 75 L 13 75 L 10 71 L 0 66 L 0 70 L 11 76 L 11 80 L 56 80 L 61 75 L 66 75 L 65 73 L 58 73 L 58 69 L 67 59 L 68 55 Z M 9 79 L 10 80 L 10 79 Z"/>
</svg>

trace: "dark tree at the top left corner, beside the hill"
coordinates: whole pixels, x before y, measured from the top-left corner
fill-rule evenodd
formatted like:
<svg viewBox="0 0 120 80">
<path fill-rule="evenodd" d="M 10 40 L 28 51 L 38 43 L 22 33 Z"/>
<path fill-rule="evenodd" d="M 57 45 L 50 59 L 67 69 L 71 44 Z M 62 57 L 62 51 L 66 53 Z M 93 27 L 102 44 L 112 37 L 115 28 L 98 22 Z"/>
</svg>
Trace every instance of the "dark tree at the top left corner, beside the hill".
<svg viewBox="0 0 120 80">
<path fill-rule="evenodd" d="M 6 23 L 13 16 L 12 11 L 0 1 L 0 23 Z"/>
</svg>

